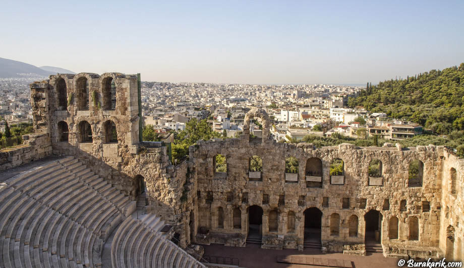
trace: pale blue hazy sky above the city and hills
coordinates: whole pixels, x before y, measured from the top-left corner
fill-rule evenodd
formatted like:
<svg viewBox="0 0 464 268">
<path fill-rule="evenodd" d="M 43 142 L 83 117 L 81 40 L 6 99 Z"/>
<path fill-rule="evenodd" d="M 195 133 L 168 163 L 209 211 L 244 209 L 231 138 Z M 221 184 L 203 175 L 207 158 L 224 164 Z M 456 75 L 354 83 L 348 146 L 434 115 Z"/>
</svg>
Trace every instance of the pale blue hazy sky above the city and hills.
<svg viewBox="0 0 464 268">
<path fill-rule="evenodd" d="M 2 1 L 0 57 L 142 80 L 365 84 L 464 62 L 464 1 Z"/>
</svg>

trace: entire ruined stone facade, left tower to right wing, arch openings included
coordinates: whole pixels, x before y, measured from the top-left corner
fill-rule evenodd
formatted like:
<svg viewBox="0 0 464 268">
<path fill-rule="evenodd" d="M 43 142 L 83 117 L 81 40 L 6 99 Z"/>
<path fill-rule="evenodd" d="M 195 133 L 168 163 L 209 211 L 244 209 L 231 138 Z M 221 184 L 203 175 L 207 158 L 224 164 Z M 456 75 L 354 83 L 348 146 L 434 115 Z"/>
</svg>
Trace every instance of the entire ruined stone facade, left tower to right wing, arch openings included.
<svg viewBox="0 0 464 268">
<path fill-rule="evenodd" d="M 145 184 L 146 210 L 174 226 L 182 246 L 243 247 L 253 238 L 263 248 L 312 243 L 365 254 L 377 241 L 385 256 L 463 258 L 464 162 L 448 149 L 275 143 L 266 112 L 255 108 L 242 138 L 199 141 L 188 161 L 173 166 L 165 146 L 139 140 L 137 86 L 137 76 L 119 73 L 32 84 L 36 134 L 3 152 L 0 169 L 51 153 L 74 155 L 133 199 Z M 260 139 L 250 138 L 253 118 L 262 123 Z M 225 172 L 216 170 L 218 154 Z M 297 159 L 296 172 L 286 173 L 289 157 Z"/>
</svg>

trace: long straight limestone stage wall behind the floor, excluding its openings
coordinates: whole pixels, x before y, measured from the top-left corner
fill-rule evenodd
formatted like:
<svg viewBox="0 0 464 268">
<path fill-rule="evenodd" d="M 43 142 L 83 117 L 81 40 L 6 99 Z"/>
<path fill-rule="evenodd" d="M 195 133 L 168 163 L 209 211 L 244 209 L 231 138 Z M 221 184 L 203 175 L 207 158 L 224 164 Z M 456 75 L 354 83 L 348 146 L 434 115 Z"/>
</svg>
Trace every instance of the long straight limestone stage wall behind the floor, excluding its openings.
<svg viewBox="0 0 464 268">
<path fill-rule="evenodd" d="M 381 242 L 401 246 L 438 247 L 441 204 L 441 166 L 443 147 L 420 146 L 417 148 L 357 148 L 342 144 L 338 147 L 315 149 L 312 145 L 280 143 L 254 143 L 246 140 L 227 139 L 221 142 L 198 142 L 191 152 L 190 159 L 196 166 L 196 179 L 201 197 L 198 199 L 200 218 L 198 226 L 214 233 L 240 234 L 248 233 L 248 209 L 257 205 L 263 209 L 262 234 L 265 247 L 296 248 L 304 242 L 304 212 L 315 207 L 322 212 L 322 243 L 344 244 L 364 243 L 364 216 L 370 210 L 377 210 L 382 215 Z M 214 174 L 213 158 L 216 154 L 226 157 L 227 176 Z M 248 177 L 249 159 L 253 155 L 262 158 L 262 181 L 252 181 Z M 298 182 L 285 181 L 285 158 L 293 156 L 299 161 Z M 322 188 L 307 187 L 305 165 L 307 160 L 316 157 L 322 161 Z M 341 185 L 330 183 L 330 164 L 340 158 L 344 162 L 344 182 Z M 370 186 L 368 165 L 370 160 L 382 161 L 382 185 Z M 408 187 L 409 164 L 412 160 L 424 163 L 422 187 Z M 208 193 L 210 192 L 210 193 Z M 212 200 L 208 200 L 208 194 Z M 267 204 L 263 204 L 263 195 L 268 195 Z M 227 196 L 233 196 L 227 200 Z M 282 200 L 280 202 L 279 199 Z M 328 198 L 328 206 L 322 206 L 323 199 Z M 343 198 L 349 198 L 349 207 L 342 209 Z M 362 205 L 365 199 L 365 205 Z M 385 199 L 389 208 L 384 210 Z M 406 210 L 400 210 L 401 200 L 406 202 Z M 422 211 L 422 201 L 430 203 L 430 211 Z M 224 210 L 223 228 L 217 226 L 217 212 Z M 242 228 L 234 229 L 232 211 L 240 208 Z M 269 212 L 278 211 L 278 229 L 269 232 Z M 288 214 L 295 213 L 295 230 L 287 231 Z M 338 214 L 339 231 L 331 235 L 331 215 Z M 357 236 L 349 235 L 349 219 L 358 218 Z M 390 217 L 398 218 L 398 238 L 389 239 L 388 221 Z M 419 221 L 419 239 L 409 239 L 409 219 L 417 217 Z M 336 243 L 335 243 L 336 244 Z M 340 250 L 338 247 L 336 251 Z"/>
</svg>

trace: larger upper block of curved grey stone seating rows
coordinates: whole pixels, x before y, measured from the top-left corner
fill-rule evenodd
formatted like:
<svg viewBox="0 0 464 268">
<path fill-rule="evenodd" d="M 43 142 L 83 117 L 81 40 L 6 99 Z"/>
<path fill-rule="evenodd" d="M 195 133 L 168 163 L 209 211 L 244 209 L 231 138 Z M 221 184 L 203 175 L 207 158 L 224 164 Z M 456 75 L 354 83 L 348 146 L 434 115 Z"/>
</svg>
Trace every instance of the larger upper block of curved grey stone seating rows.
<svg viewBox="0 0 464 268">
<path fill-rule="evenodd" d="M 104 241 L 134 209 L 73 157 L 15 176 L 0 184 L 0 267 L 101 267 Z"/>
</svg>

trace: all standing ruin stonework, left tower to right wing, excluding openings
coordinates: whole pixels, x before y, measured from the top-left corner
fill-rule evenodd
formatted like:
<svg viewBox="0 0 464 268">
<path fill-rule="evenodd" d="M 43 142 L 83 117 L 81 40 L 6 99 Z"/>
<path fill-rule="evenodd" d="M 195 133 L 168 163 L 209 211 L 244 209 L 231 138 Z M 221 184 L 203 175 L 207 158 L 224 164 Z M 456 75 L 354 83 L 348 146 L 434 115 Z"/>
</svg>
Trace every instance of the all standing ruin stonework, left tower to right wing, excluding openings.
<svg viewBox="0 0 464 268">
<path fill-rule="evenodd" d="M 89 96 L 89 110 L 80 111 L 76 107 L 76 81 L 80 77 L 89 80 L 89 93 L 101 94 L 102 78 L 111 76 L 117 82 L 117 108 L 105 111 L 95 107 Z M 68 96 L 73 100 L 67 110 L 57 106 L 56 80 L 66 81 Z M 89 94 L 89 95 L 90 95 Z M 101 100 L 101 95 L 98 95 Z M 383 216 L 381 242 L 384 252 L 403 252 L 404 247 L 417 249 L 421 256 L 449 256 L 449 226 L 453 227 L 454 242 L 450 258 L 462 259 L 464 241 L 462 218 L 464 211 L 464 163 L 444 147 L 418 146 L 416 148 L 382 147 L 357 148 L 343 144 L 338 147 L 315 149 L 309 144 L 279 144 L 268 139 L 267 115 L 261 109 L 252 109 L 247 120 L 261 117 L 263 122 L 263 143 L 249 141 L 249 131 L 244 131 L 243 139 L 224 141 L 199 141 L 190 148 L 190 160 L 172 166 L 165 147 L 159 144 L 140 143 L 138 140 L 137 78 L 118 73 L 57 75 L 42 83 L 31 84 L 35 134 L 25 137 L 22 146 L 0 153 L 0 170 L 11 168 L 31 160 L 43 158 L 50 153 L 74 155 L 100 176 L 105 177 L 127 195 L 136 198 L 137 181 L 142 175 L 147 184 L 149 206 L 147 210 L 156 213 L 167 224 L 172 224 L 180 234 L 181 245 L 197 242 L 219 242 L 226 245 L 244 246 L 248 233 L 247 208 L 260 206 L 263 211 L 264 248 L 302 248 L 304 215 L 307 208 L 316 207 L 322 216 L 322 243 L 331 251 L 341 251 L 344 245 L 363 248 L 364 215 L 371 209 Z M 118 131 L 117 144 L 104 144 L 100 137 L 92 143 L 78 143 L 76 132 L 81 120 L 92 125 L 92 135 L 102 135 L 102 123 L 108 119 L 115 122 Z M 246 121 L 247 121 L 246 120 Z M 57 123 L 66 121 L 69 126 L 69 141 L 60 142 Z M 217 178 L 214 174 L 213 157 L 226 156 L 227 176 Z M 248 179 L 249 157 L 259 155 L 263 160 L 263 180 Z M 285 158 L 294 156 L 299 161 L 298 182 L 285 182 Z M 316 157 L 323 164 L 322 188 L 308 188 L 305 181 L 306 161 Z M 333 159 L 344 161 L 344 184 L 330 184 L 329 167 Z M 368 165 L 371 159 L 379 159 L 383 164 L 382 186 L 368 185 Z M 408 187 L 410 161 L 418 159 L 424 163 L 422 187 Z M 457 171 L 456 194 L 449 194 L 450 168 Z M 205 199 L 206 192 L 212 193 L 212 200 Z M 227 202 L 227 194 L 233 198 Z M 200 196 L 198 196 L 200 194 Z M 262 204 L 263 194 L 269 195 L 269 204 Z M 284 196 L 284 204 L 279 205 L 279 195 Z M 303 199 L 302 196 L 304 196 Z M 198 198 L 199 197 L 199 198 Z M 322 207 L 323 197 L 329 198 L 329 206 Z M 350 198 L 350 208 L 341 209 L 342 198 Z M 366 207 L 360 208 L 361 198 L 366 198 Z M 300 199 L 300 202 L 299 202 Z M 388 210 L 383 210 L 384 199 L 390 200 Z M 400 211 L 400 200 L 407 200 L 407 211 Z M 422 212 L 422 201 L 430 202 L 430 212 Z M 224 227 L 217 227 L 217 208 L 224 209 Z M 240 230 L 233 228 L 232 210 L 241 209 Z M 448 209 L 446 209 L 448 208 Z M 278 211 L 278 231 L 268 232 L 269 211 Z M 287 232 L 288 212 L 295 213 L 295 231 Z M 330 235 L 330 215 L 340 216 L 339 235 Z M 356 215 L 359 220 L 358 236 L 349 236 L 348 219 Z M 388 219 L 399 219 L 398 239 L 388 238 Z M 419 219 L 419 240 L 410 241 L 409 219 Z M 201 228 L 210 235 L 198 234 Z M 350 247 L 349 247 L 350 248 Z M 440 250 L 441 252 L 437 252 Z M 414 251 L 414 250 L 413 250 Z M 410 250 L 409 253 L 415 254 Z"/>
</svg>

